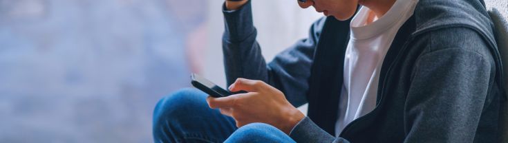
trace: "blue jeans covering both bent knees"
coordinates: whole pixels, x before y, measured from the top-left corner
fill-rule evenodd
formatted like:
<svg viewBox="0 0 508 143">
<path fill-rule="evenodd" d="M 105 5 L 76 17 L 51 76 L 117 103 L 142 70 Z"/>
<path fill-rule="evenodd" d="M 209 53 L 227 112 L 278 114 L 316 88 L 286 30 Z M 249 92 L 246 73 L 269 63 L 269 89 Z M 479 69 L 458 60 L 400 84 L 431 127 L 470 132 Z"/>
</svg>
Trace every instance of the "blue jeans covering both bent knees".
<svg viewBox="0 0 508 143">
<path fill-rule="evenodd" d="M 197 89 L 181 89 L 162 98 L 153 111 L 154 142 L 294 142 L 269 124 L 238 129 L 233 118 L 210 109 L 206 98 Z"/>
</svg>

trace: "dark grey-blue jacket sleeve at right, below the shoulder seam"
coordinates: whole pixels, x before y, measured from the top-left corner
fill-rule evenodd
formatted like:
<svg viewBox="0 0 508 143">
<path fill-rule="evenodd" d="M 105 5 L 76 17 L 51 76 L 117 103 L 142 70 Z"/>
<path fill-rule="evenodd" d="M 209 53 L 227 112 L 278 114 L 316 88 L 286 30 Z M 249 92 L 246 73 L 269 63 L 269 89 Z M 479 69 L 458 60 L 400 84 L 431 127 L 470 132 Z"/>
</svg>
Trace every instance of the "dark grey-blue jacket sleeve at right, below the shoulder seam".
<svg viewBox="0 0 508 143">
<path fill-rule="evenodd" d="M 452 32 L 460 36 L 446 37 Z M 489 47 L 467 28 L 436 30 L 429 37 L 406 98 L 405 142 L 478 140 L 475 135 L 481 130 L 477 127 L 489 104 L 495 70 Z"/>
</svg>

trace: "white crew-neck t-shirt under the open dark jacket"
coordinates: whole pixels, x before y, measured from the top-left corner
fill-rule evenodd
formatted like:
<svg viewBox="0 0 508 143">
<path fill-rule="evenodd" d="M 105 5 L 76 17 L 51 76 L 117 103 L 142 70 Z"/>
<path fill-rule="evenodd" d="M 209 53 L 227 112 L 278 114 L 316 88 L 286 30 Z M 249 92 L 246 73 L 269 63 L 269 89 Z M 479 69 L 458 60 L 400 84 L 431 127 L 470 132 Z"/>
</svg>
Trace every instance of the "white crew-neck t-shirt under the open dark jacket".
<svg viewBox="0 0 508 143">
<path fill-rule="evenodd" d="M 366 25 L 370 10 L 362 7 L 353 17 L 344 59 L 344 84 L 335 133 L 376 106 L 381 65 L 395 34 L 413 15 L 418 0 L 397 0 L 383 17 Z"/>
</svg>

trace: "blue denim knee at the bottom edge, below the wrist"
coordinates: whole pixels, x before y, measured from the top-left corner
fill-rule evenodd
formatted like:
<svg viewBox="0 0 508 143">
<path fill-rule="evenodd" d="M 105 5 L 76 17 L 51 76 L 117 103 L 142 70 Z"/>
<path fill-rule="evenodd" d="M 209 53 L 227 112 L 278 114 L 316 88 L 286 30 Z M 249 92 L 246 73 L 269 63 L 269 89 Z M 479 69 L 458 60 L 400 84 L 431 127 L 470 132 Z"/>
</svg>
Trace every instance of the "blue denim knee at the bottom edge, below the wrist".
<svg viewBox="0 0 508 143">
<path fill-rule="evenodd" d="M 225 142 L 294 142 L 290 136 L 270 124 L 252 123 L 236 130 Z"/>
</svg>

